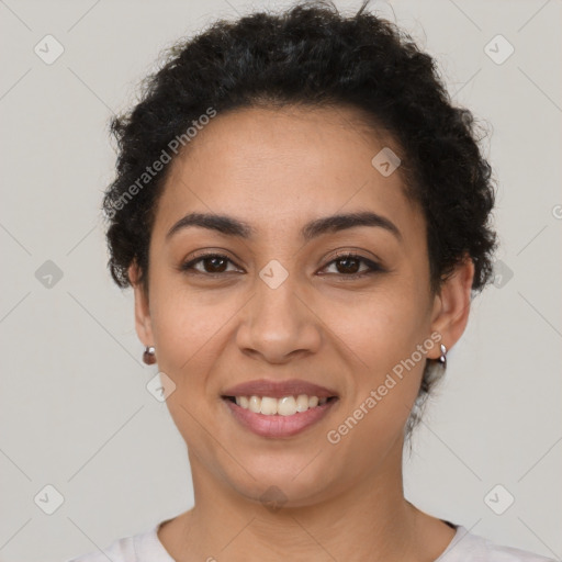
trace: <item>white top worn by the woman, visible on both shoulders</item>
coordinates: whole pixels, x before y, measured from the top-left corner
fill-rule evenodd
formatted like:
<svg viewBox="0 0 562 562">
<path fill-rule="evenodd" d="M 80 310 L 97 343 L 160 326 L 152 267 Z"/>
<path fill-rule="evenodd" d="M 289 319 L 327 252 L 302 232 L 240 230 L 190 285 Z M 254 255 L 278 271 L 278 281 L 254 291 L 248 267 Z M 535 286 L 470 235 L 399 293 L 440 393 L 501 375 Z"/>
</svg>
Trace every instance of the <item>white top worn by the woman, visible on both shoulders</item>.
<svg viewBox="0 0 562 562">
<path fill-rule="evenodd" d="M 119 539 L 103 552 L 92 552 L 68 562 L 176 562 L 158 539 L 157 530 L 160 525 L 159 522 L 133 537 Z M 454 527 L 454 537 L 435 562 L 555 562 L 554 559 L 525 550 L 494 544 L 469 532 L 462 525 Z"/>
</svg>

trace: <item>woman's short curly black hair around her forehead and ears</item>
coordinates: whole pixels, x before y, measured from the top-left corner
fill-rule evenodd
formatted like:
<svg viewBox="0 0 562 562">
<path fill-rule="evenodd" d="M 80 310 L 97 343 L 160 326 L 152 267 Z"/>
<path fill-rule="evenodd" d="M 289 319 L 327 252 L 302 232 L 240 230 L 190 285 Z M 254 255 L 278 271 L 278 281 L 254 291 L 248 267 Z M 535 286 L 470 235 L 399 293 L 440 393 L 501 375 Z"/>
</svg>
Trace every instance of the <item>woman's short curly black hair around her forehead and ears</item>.
<svg viewBox="0 0 562 562">
<path fill-rule="evenodd" d="M 140 101 L 111 122 L 117 173 L 102 206 L 108 266 L 121 288 L 131 284 L 135 262 L 148 289 L 150 234 L 170 166 L 159 173 L 151 168 L 165 154 L 170 158 L 173 139 L 189 137 L 189 127 L 196 134 L 210 111 L 283 105 L 352 106 L 367 125 L 390 134 L 400 147 L 405 192 L 426 218 L 431 289 L 438 291 L 467 256 L 474 262 L 473 291 L 491 280 L 495 191 L 479 147 L 480 125 L 451 103 L 432 57 L 368 4 L 350 16 L 319 0 L 220 20 L 167 49 L 159 70 L 143 81 Z M 431 363 L 407 432 L 436 381 Z"/>
</svg>

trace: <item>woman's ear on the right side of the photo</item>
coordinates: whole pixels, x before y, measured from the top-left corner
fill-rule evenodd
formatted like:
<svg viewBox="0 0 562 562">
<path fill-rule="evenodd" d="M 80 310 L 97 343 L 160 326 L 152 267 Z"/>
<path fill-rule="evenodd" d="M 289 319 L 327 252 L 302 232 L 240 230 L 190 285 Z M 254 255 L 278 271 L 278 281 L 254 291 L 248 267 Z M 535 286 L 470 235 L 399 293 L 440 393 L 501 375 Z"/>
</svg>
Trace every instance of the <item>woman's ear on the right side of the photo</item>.
<svg viewBox="0 0 562 562">
<path fill-rule="evenodd" d="M 441 344 L 447 349 L 462 336 L 469 322 L 472 280 L 474 278 L 474 263 L 470 256 L 454 267 L 451 274 L 442 282 L 439 294 L 434 300 L 431 315 L 431 333 L 441 335 Z M 437 359 L 440 355 L 436 350 Z"/>
</svg>

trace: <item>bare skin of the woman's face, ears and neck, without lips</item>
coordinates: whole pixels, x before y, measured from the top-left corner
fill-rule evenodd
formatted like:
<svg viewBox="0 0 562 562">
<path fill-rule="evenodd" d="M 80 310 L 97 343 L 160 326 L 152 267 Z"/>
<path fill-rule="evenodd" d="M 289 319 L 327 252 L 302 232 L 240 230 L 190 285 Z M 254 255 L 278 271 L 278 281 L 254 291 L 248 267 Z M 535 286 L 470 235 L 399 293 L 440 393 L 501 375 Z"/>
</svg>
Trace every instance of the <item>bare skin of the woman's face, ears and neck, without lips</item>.
<svg viewBox="0 0 562 562">
<path fill-rule="evenodd" d="M 167 404 L 189 450 L 194 507 L 158 530 L 177 561 L 430 562 L 452 540 L 452 528 L 403 493 L 404 425 L 425 359 L 337 445 L 326 438 L 432 333 L 454 345 L 474 274 L 467 259 L 430 292 L 424 215 L 404 194 L 400 168 L 383 177 L 371 165 L 383 146 L 400 148 L 368 134 L 359 117 L 349 108 L 218 114 L 170 165 L 148 293 L 135 263 L 130 278 L 138 337 L 176 384 Z M 357 211 L 384 215 L 401 239 L 371 226 L 300 237 L 311 220 Z M 190 212 L 232 215 L 257 234 L 189 227 L 166 239 Z M 226 255 L 227 272 L 213 278 L 209 261 L 195 266 L 199 274 L 180 271 L 196 250 Z M 384 271 L 350 279 L 357 270 L 334 262 L 342 250 Z M 273 259 L 289 273 L 277 289 L 258 274 Z M 436 344 L 425 357 L 439 355 Z M 259 437 L 234 420 L 221 394 L 260 378 L 305 379 L 339 401 L 300 435 Z M 282 491 L 280 509 L 259 499 L 270 486 Z"/>
</svg>

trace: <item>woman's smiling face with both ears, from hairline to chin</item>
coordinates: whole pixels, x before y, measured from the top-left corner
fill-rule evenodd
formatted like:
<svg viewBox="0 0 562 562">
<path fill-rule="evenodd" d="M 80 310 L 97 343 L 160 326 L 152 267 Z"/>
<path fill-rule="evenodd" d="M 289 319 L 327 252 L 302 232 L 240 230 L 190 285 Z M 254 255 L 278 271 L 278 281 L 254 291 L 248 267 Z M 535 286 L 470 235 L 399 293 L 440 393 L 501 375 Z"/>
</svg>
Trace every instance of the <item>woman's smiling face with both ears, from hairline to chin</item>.
<svg viewBox="0 0 562 562">
<path fill-rule="evenodd" d="M 357 116 L 344 108 L 218 114 L 171 165 L 148 295 L 135 286 L 136 326 L 176 385 L 167 404 L 195 486 L 254 499 L 277 486 L 300 506 L 395 477 L 426 359 L 464 328 L 472 265 L 431 294 L 423 213 L 400 168 L 384 176 L 371 164 L 383 147 L 400 149 L 355 126 Z M 169 234 L 192 213 L 246 229 L 223 222 Z M 328 228 L 322 220 L 333 215 L 347 218 Z M 229 392 L 257 380 L 271 391 Z M 295 380 L 329 400 L 266 416 L 225 397 L 292 394 L 274 383 Z"/>
</svg>

